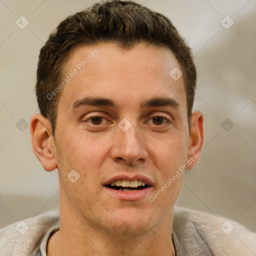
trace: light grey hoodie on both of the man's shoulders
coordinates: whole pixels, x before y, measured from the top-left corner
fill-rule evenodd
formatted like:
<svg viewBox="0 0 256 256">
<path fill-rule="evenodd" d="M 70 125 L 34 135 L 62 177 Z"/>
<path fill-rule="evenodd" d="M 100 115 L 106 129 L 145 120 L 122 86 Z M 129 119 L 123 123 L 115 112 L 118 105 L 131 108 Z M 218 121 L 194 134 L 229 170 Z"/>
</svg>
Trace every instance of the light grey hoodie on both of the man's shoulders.
<svg viewBox="0 0 256 256">
<path fill-rule="evenodd" d="M 58 225 L 58 213 L 50 211 L 1 229 L 0 256 L 35 256 Z M 233 220 L 175 206 L 173 231 L 180 256 L 256 255 L 256 234 Z"/>
</svg>

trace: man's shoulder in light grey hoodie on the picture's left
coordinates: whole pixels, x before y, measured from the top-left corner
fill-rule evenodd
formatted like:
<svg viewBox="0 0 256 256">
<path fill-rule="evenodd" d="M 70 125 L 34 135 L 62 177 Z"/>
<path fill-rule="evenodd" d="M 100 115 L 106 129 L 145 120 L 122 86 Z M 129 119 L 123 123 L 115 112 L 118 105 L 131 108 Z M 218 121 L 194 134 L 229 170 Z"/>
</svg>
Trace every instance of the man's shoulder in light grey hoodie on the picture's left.
<svg viewBox="0 0 256 256">
<path fill-rule="evenodd" d="M 49 228 L 58 224 L 58 212 L 49 211 L 0 229 L 0 255 L 35 254 Z"/>
</svg>

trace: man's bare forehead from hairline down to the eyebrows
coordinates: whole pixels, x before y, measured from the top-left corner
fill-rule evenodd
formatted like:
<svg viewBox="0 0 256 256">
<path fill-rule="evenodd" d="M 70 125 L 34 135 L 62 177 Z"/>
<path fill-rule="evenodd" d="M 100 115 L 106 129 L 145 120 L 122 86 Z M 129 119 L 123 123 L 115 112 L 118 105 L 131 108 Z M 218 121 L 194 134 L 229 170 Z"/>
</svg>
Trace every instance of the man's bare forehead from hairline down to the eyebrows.
<svg viewBox="0 0 256 256">
<path fill-rule="evenodd" d="M 128 105 L 134 103 L 127 102 L 128 97 L 136 97 L 140 104 L 139 100 L 153 96 L 170 96 L 185 104 L 183 77 L 173 79 L 170 75 L 173 68 L 181 69 L 171 50 L 164 47 L 138 44 L 124 49 L 114 43 L 81 45 L 70 52 L 65 63 L 66 79 L 70 80 L 60 101 L 66 106 L 82 97 L 101 96 Z"/>
</svg>

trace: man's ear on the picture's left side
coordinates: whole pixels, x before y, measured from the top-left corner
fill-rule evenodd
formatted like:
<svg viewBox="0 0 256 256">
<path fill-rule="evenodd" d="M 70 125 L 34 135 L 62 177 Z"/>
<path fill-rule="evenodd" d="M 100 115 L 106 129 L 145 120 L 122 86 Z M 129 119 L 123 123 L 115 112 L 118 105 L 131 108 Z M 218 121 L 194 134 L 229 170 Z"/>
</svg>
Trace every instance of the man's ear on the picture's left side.
<svg viewBox="0 0 256 256">
<path fill-rule="evenodd" d="M 55 144 L 49 120 L 41 114 L 34 114 L 30 120 L 30 133 L 34 154 L 42 167 L 47 171 L 55 169 Z"/>
</svg>

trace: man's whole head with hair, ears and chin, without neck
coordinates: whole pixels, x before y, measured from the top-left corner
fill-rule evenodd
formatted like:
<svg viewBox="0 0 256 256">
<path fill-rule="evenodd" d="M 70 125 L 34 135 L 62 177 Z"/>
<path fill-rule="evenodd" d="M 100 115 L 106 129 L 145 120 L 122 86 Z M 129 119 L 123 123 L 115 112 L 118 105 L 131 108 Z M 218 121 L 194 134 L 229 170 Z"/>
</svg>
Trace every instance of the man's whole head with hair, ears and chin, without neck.
<svg viewBox="0 0 256 256">
<path fill-rule="evenodd" d="M 43 168 L 58 169 L 60 214 L 113 232 L 170 224 L 203 143 L 195 81 L 191 51 L 162 14 L 107 1 L 62 21 L 40 50 L 41 114 L 30 123 Z"/>
</svg>

